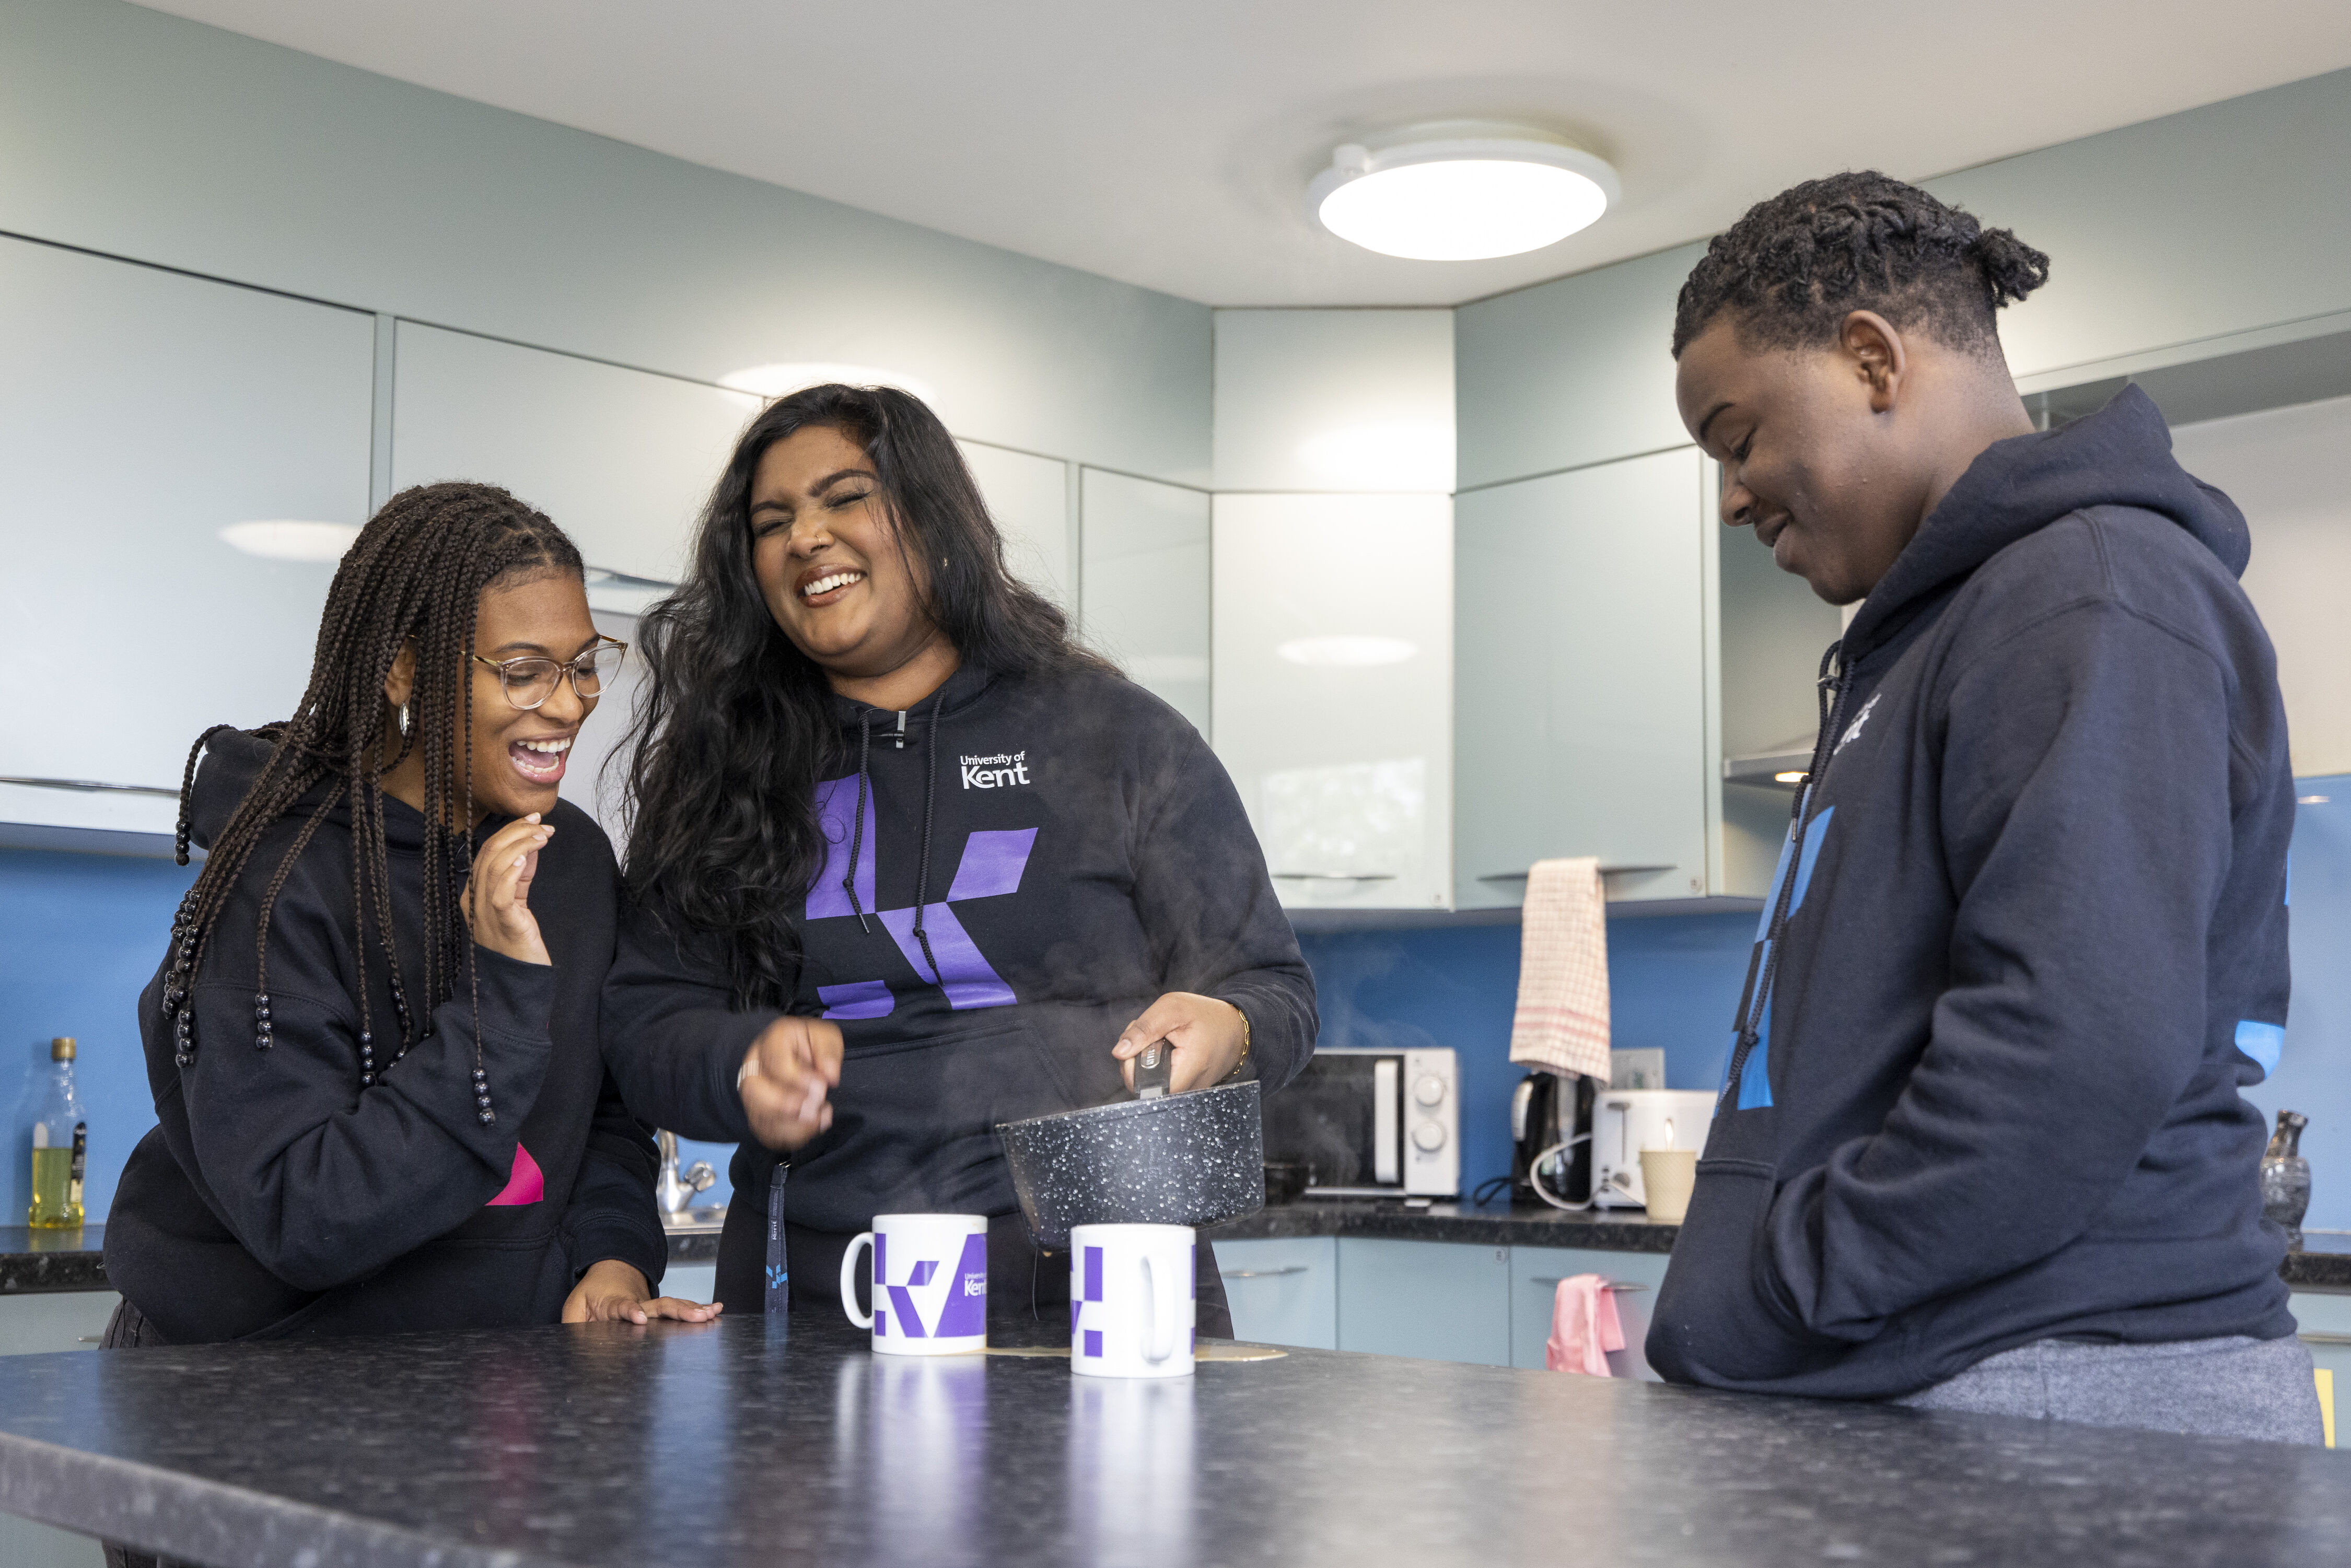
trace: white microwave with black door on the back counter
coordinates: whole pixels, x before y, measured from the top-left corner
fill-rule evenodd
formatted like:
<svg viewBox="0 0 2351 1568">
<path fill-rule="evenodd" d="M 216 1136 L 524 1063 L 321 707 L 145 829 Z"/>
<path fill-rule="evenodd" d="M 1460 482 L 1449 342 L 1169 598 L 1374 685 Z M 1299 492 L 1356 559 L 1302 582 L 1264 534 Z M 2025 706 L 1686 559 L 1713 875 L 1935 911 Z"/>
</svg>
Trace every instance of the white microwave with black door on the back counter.
<svg viewBox="0 0 2351 1568">
<path fill-rule="evenodd" d="M 1314 1197 L 1458 1197 L 1453 1051 L 1317 1051 L 1265 1095 L 1265 1159 L 1305 1166 Z"/>
</svg>

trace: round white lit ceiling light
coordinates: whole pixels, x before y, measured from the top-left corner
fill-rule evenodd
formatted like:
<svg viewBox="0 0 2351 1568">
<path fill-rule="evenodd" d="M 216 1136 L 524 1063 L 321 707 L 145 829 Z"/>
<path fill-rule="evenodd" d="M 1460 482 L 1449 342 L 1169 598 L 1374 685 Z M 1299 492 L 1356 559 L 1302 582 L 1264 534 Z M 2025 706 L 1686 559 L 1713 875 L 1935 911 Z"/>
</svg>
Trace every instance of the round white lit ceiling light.
<svg viewBox="0 0 2351 1568">
<path fill-rule="evenodd" d="M 1617 195 L 1615 169 L 1561 136 L 1446 120 L 1338 148 L 1307 209 L 1382 256 L 1483 261 L 1559 244 Z"/>
</svg>

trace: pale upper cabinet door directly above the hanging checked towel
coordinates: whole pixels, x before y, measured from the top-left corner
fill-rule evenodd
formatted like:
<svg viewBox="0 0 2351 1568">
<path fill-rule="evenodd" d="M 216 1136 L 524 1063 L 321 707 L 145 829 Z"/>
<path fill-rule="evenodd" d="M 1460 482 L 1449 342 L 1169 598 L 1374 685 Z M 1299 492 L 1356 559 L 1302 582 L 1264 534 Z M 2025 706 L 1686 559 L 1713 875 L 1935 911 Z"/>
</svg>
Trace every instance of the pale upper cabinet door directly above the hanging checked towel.
<svg viewBox="0 0 2351 1568">
<path fill-rule="evenodd" d="M 1455 498 L 1460 907 L 1552 856 L 1709 891 L 1704 482 L 1683 447 Z"/>
</svg>

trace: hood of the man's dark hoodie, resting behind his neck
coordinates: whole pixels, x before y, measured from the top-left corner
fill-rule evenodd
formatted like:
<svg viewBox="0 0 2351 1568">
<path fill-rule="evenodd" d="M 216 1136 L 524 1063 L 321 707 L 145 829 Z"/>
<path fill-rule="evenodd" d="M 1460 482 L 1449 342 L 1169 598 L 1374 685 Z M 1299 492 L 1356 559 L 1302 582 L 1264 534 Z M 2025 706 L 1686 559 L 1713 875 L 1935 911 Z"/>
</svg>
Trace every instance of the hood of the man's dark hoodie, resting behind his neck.
<svg viewBox="0 0 2351 1568">
<path fill-rule="evenodd" d="M 2252 557 L 2245 515 L 2172 458 L 2172 433 L 2135 386 L 2097 414 L 2057 430 L 1994 442 L 1928 512 L 1846 632 L 1846 665 L 1886 644 L 1928 599 L 1956 588 L 1987 559 L 2092 505 L 2170 517 L 2243 576 Z"/>
</svg>

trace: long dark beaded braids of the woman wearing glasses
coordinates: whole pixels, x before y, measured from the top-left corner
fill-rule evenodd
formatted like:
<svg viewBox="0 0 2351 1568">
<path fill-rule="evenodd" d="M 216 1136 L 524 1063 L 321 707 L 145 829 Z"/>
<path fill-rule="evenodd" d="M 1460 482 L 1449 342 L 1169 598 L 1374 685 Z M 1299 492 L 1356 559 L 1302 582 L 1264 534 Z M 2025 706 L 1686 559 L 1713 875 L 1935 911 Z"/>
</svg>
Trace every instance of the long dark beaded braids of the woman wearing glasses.
<svg viewBox="0 0 2351 1568">
<path fill-rule="evenodd" d="M 294 717 L 256 731 L 270 743 L 268 762 L 221 827 L 188 896 L 172 919 L 172 964 L 162 1013 L 172 1053 L 195 1065 L 190 987 L 205 961 L 221 910 L 247 875 L 268 827 L 306 795 L 327 785 L 261 893 L 254 931 L 254 1048 L 270 1048 L 268 943 L 270 912 L 294 863 L 320 823 L 350 802 L 350 940 L 360 999 L 360 1088 L 369 1088 L 409 1046 L 430 1032 L 430 1016 L 456 992 L 458 973 L 477 994 L 465 891 L 473 877 L 473 632 L 482 590 L 501 578 L 567 571 L 581 576 L 581 552 L 543 512 L 494 484 L 423 484 L 393 496 L 360 529 L 327 590 L 310 684 Z M 416 679 L 395 712 L 383 693 L 393 663 L 414 646 Z M 176 860 L 188 863 L 190 799 L 197 757 L 228 724 L 207 729 L 188 750 L 179 792 Z M 390 853 L 383 832 L 381 776 L 423 752 L 423 1006 L 411 1006 L 407 976 L 393 943 Z M 379 1065 L 367 985 L 369 924 L 383 952 L 393 992 L 390 1056 Z M 480 1001 L 475 1001 L 480 1009 Z M 498 1119 L 475 1039 L 475 1117 Z"/>
</svg>

